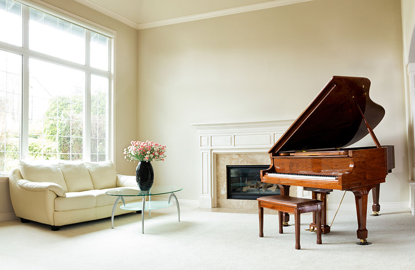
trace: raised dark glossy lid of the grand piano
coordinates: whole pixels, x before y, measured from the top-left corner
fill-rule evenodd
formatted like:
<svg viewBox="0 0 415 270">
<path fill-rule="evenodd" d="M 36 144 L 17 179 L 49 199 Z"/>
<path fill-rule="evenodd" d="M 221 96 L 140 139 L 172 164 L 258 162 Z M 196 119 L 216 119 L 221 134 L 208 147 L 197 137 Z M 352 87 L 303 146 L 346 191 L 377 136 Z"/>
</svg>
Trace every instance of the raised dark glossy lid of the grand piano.
<svg viewBox="0 0 415 270">
<path fill-rule="evenodd" d="M 333 76 L 268 153 L 341 148 L 368 135 L 359 107 L 372 129 L 385 115 L 369 97 L 370 83 Z"/>
</svg>

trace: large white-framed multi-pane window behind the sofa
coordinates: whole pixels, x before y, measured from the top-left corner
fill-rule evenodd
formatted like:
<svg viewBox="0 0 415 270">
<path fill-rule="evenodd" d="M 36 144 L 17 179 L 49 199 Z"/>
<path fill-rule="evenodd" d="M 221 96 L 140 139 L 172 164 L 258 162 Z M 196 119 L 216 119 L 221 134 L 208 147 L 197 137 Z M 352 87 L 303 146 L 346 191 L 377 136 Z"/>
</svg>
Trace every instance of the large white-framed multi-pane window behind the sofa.
<svg viewBox="0 0 415 270">
<path fill-rule="evenodd" d="M 109 36 L 0 0 L 0 172 L 19 159 L 109 159 Z"/>
</svg>

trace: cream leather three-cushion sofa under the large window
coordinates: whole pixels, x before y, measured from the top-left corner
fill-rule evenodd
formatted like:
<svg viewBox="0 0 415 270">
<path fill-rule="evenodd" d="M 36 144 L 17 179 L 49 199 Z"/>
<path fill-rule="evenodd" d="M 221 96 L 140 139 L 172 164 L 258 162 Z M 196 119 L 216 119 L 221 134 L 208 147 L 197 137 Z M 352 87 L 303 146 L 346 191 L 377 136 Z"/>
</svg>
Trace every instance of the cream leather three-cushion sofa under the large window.
<svg viewBox="0 0 415 270">
<path fill-rule="evenodd" d="M 116 174 L 111 161 L 21 161 L 19 168 L 10 172 L 9 186 L 13 209 L 21 222 L 49 224 L 57 231 L 62 225 L 111 216 L 116 196 L 105 192 L 137 184 L 135 176 Z M 137 197 L 125 197 L 125 202 L 135 201 L 139 201 Z M 126 212 L 131 211 L 117 207 L 115 214 Z"/>
</svg>

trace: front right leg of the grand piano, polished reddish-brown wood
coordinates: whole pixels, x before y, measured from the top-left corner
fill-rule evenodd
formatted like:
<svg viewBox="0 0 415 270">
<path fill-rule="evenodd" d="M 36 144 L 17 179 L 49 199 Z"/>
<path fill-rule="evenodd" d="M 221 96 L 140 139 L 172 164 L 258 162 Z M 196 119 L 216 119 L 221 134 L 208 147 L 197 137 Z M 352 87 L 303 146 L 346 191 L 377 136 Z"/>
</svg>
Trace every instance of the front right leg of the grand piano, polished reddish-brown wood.
<svg viewBox="0 0 415 270">
<path fill-rule="evenodd" d="M 357 226 L 359 227 L 356 233 L 357 238 L 360 239 L 360 242 L 357 243 L 359 245 L 372 244 L 366 240 L 368 237 L 368 230 L 366 229 L 366 218 L 368 212 L 368 194 L 374 187 L 376 187 L 376 185 L 352 189 L 354 200 L 356 202 Z"/>
</svg>

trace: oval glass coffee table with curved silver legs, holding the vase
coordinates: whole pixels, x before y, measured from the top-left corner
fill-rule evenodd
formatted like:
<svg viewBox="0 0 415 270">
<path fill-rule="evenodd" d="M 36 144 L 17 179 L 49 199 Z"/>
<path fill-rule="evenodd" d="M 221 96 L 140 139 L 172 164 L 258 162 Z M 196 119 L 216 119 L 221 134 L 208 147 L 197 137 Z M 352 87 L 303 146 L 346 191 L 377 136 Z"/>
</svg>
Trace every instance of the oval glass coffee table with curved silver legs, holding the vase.
<svg viewBox="0 0 415 270">
<path fill-rule="evenodd" d="M 149 191 L 141 191 L 137 187 L 126 187 L 126 188 L 117 188 L 110 191 L 105 192 L 105 194 L 110 196 L 117 196 L 115 199 L 114 206 L 112 207 L 112 214 L 111 214 L 111 229 L 114 229 L 114 213 L 117 207 L 118 201 L 121 199 L 123 201 L 123 205 L 120 206 L 121 209 L 129 210 L 129 211 L 141 211 L 141 228 L 142 233 L 144 233 L 144 212 L 148 210 L 148 218 L 151 218 L 151 210 L 165 208 L 173 205 L 171 201 L 171 197 L 174 197 L 176 200 L 177 206 L 177 214 L 179 216 L 180 222 L 180 206 L 179 201 L 177 200 L 175 192 L 179 192 L 183 190 L 180 187 L 174 186 L 153 186 Z M 161 194 L 170 194 L 168 197 L 168 201 L 151 201 L 151 196 L 154 195 L 161 195 Z M 135 202 L 135 203 L 128 203 L 125 204 L 123 197 L 143 197 L 143 202 Z M 145 200 L 145 197 L 148 196 L 148 201 Z"/>
</svg>

